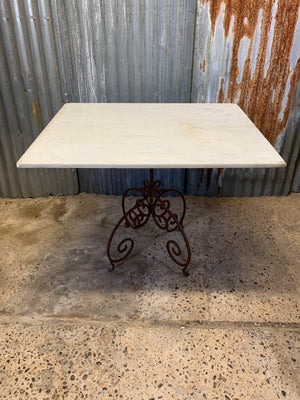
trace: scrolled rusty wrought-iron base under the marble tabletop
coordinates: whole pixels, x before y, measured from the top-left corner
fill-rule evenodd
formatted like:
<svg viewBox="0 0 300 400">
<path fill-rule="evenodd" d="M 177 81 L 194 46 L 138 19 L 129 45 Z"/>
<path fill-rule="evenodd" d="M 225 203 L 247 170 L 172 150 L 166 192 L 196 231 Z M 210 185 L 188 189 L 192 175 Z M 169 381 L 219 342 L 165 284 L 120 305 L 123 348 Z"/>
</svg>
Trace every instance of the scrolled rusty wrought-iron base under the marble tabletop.
<svg viewBox="0 0 300 400">
<path fill-rule="evenodd" d="M 114 227 L 107 244 L 107 256 L 111 263 L 110 271 L 114 270 L 115 264 L 123 261 L 131 253 L 134 241 L 127 237 L 123 239 L 117 246 L 117 251 L 120 254 L 119 258 L 113 258 L 111 256 L 111 244 L 113 238 L 122 223 L 125 223 L 126 227 L 131 227 L 132 229 L 139 229 L 144 226 L 152 216 L 155 224 L 167 232 L 179 231 L 184 240 L 187 258 L 186 260 L 181 260 L 182 249 L 180 245 L 175 240 L 168 240 L 166 247 L 171 259 L 181 267 L 183 267 L 184 275 L 188 275 L 188 265 L 191 261 L 191 249 L 189 242 L 187 240 L 186 234 L 183 230 L 183 219 L 186 213 L 186 202 L 183 194 L 176 189 L 161 189 L 161 181 L 153 179 L 153 169 L 150 169 L 150 179 L 145 179 L 143 188 L 129 188 L 123 194 L 122 197 L 122 211 L 123 216 Z M 138 198 L 135 205 L 128 210 L 125 208 L 126 196 L 129 192 L 138 192 L 141 194 L 141 198 Z M 168 193 L 176 193 L 181 197 L 182 200 L 182 213 L 180 218 L 178 215 L 170 210 L 170 201 L 164 199 L 163 196 Z"/>
</svg>

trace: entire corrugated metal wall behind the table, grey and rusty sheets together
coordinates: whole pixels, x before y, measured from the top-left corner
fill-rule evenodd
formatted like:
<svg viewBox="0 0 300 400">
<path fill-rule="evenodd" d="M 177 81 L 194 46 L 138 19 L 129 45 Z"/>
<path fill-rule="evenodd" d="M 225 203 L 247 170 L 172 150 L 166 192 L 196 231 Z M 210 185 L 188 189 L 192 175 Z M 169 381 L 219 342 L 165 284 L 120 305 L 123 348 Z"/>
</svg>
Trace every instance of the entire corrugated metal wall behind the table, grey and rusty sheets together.
<svg viewBox="0 0 300 400">
<path fill-rule="evenodd" d="M 143 170 L 16 169 L 65 102 L 236 102 L 286 169 L 156 176 L 189 194 L 299 191 L 299 1 L 1 0 L 0 18 L 1 196 L 141 183 Z"/>
</svg>

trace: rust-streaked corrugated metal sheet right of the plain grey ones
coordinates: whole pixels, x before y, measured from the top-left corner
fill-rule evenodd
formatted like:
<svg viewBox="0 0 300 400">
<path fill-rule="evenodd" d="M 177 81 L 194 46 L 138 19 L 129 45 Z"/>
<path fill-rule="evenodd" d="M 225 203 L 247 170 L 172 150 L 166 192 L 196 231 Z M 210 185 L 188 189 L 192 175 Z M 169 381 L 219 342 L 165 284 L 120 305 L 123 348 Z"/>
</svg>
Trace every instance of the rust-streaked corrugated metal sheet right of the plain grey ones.
<svg viewBox="0 0 300 400">
<path fill-rule="evenodd" d="M 285 169 L 189 170 L 189 194 L 260 196 L 299 187 L 299 1 L 199 0 L 193 102 L 235 102 L 288 163 Z M 293 178 L 294 177 L 294 178 Z"/>
</svg>

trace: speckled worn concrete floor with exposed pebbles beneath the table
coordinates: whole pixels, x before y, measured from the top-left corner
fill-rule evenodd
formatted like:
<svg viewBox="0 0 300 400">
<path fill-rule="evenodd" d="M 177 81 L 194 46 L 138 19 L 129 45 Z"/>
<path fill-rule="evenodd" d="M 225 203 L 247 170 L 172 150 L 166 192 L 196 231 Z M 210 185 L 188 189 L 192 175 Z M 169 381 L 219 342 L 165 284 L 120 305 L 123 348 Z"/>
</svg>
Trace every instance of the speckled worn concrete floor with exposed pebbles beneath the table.
<svg viewBox="0 0 300 400">
<path fill-rule="evenodd" d="M 187 197 L 188 277 L 120 201 L 0 199 L 0 398 L 299 400 L 300 195 Z"/>
</svg>

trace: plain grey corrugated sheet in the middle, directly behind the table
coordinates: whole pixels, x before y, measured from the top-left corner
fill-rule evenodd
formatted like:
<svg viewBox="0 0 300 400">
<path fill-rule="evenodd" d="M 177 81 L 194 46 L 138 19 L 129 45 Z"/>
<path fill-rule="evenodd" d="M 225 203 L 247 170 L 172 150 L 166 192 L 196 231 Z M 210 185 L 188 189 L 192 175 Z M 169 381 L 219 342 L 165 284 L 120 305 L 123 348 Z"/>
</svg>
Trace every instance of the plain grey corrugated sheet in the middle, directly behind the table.
<svg viewBox="0 0 300 400">
<path fill-rule="evenodd" d="M 62 42 L 72 47 L 79 101 L 190 102 L 196 0 L 65 4 Z M 158 173 L 167 187 L 184 187 L 184 179 L 176 179 L 184 170 Z M 143 170 L 81 169 L 80 190 L 121 194 L 147 176 Z"/>
</svg>

